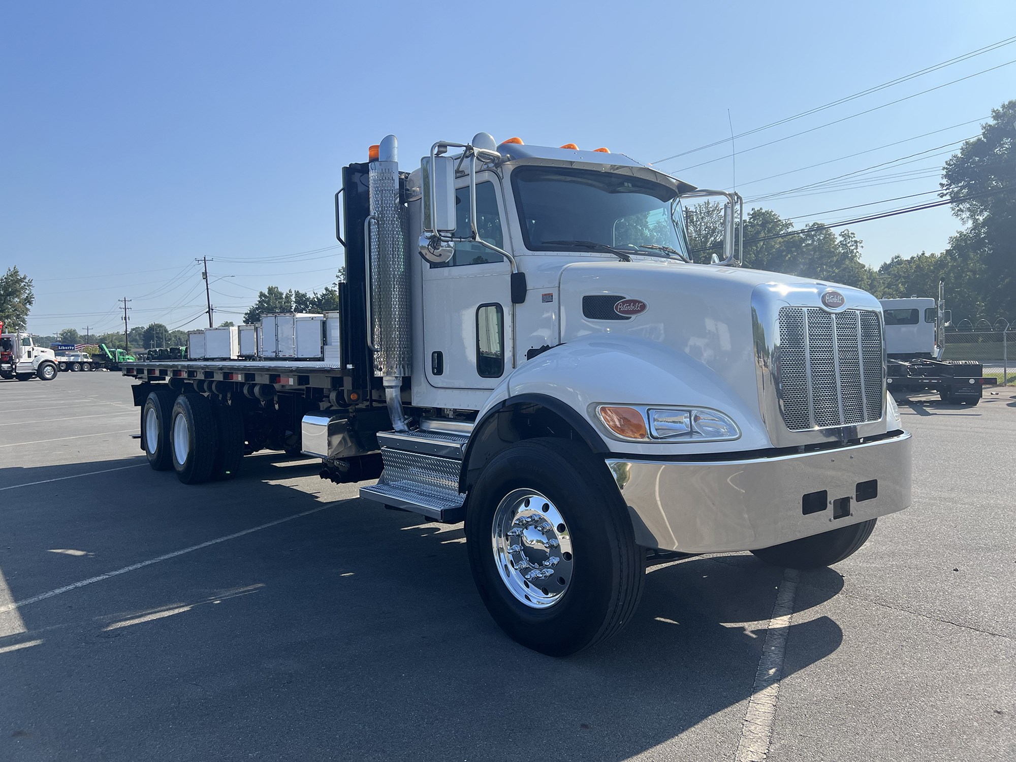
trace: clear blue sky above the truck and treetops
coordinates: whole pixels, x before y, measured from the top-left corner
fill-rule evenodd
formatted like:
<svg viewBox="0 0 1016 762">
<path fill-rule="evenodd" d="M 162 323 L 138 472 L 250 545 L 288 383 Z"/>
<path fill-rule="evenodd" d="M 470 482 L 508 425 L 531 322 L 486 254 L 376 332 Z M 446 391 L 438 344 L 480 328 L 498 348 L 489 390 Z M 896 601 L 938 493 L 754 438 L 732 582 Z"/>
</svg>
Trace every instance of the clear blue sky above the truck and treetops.
<svg viewBox="0 0 1016 762">
<path fill-rule="evenodd" d="M 745 132 L 1016 36 L 1012 0 L 775 5 L 5 3 L 0 268 L 35 278 L 34 332 L 122 328 L 124 296 L 131 325 L 175 328 L 204 320 L 192 260 L 205 255 L 216 259 L 213 280 L 232 276 L 212 285 L 216 322 L 237 320 L 269 283 L 330 282 L 340 250 L 282 255 L 335 245 L 340 168 L 387 133 L 406 169 L 434 140 L 480 130 L 656 162 L 727 138 L 727 109 Z M 1016 63 L 749 150 L 1014 59 L 1016 44 L 740 138 L 739 190 L 751 205 L 975 135 L 968 124 L 752 182 L 987 117 L 1016 98 Z M 882 170 L 868 187 L 756 204 L 797 216 L 934 190 L 949 147 Z M 659 166 L 676 172 L 729 148 Z M 728 158 L 679 174 L 733 183 Z M 958 225 L 940 208 L 853 230 L 878 264 L 940 251 Z M 276 261 L 226 261 L 259 257 Z"/>
</svg>

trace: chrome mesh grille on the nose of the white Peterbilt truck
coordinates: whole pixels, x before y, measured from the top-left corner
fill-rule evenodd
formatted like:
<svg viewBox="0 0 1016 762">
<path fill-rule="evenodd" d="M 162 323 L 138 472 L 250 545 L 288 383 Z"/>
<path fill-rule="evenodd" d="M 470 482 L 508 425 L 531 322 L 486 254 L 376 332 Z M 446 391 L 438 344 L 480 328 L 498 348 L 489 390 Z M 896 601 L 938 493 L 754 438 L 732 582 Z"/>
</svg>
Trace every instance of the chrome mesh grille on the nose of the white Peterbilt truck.
<svg viewBox="0 0 1016 762">
<path fill-rule="evenodd" d="M 882 418 L 882 325 L 877 312 L 779 311 L 779 390 L 790 431 L 856 426 Z"/>
</svg>

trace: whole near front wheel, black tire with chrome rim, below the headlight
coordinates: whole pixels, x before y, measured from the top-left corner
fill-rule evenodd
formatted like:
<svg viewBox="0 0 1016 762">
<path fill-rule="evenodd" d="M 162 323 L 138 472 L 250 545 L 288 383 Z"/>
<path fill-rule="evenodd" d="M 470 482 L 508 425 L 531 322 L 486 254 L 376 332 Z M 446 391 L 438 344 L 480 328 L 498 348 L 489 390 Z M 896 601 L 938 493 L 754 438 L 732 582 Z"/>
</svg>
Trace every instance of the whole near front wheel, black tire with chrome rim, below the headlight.
<svg viewBox="0 0 1016 762">
<path fill-rule="evenodd" d="M 565 656 L 635 613 L 645 553 L 602 461 L 565 439 L 499 453 L 469 494 L 466 547 L 487 610 L 514 640 Z"/>
</svg>

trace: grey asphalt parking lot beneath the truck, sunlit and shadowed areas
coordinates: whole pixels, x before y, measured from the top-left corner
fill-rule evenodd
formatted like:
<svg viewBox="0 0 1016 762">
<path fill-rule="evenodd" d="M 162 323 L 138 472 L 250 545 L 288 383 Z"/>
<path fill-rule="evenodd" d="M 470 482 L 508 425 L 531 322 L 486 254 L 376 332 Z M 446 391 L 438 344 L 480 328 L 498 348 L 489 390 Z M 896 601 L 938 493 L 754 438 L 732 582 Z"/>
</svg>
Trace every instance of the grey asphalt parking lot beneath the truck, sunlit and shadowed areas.
<svg viewBox="0 0 1016 762">
<path fill-rule="evenodd" d="M 487 615 L 460 525 L 281 453 L 185 487 L 128 385 L 0 381 L 0 760 L 753 758 L 782 570 L 654 567 L 619 637 L 550 658 Z M 1016 757 L 1016 390 L 901 407 L 913 505 L 800 574 L 769 760 Z"/>
</svg>

